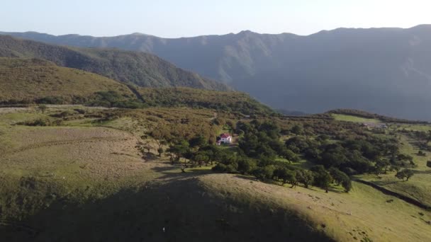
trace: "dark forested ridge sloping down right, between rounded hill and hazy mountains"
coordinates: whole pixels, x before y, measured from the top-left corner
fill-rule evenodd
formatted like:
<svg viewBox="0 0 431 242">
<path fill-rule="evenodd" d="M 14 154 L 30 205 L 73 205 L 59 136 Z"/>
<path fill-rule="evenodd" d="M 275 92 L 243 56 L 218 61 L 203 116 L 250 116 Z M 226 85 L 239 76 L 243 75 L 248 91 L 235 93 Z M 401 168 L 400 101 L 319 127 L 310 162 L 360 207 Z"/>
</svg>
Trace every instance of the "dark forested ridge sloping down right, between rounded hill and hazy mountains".
<svg viewBox="0 0 431 242">
<path fill-rule="evenodd" d="M 81 69 L 138 86 L 230 90 L 222 83 L 179 69 L 155 55 L 142 52 L 62 47 L 0 35 L 0 57 L 47 59 L 60 67 Z"/>
</svg>

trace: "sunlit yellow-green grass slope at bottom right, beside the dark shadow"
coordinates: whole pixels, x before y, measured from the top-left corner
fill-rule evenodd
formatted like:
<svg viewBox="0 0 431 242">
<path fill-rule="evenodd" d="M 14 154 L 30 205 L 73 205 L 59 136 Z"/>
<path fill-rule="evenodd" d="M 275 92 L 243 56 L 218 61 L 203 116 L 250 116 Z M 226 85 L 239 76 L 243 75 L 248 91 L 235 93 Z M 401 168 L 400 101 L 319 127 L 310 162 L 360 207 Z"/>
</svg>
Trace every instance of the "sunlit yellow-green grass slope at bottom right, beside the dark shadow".
<svg viewBox="0 0 431 242">
<path fill-rule="evenodd" d="M 337 241 L 431 239 L 430 225 L 425 222 L 430 220 L 430 212 L 397 199 L 386 202 L 393 197 L 359 183 L 354 183 L 352 192 L 346 194 L 284 188 L 235 175 L 208 175 L 201 180 L 208 190 L 216 190 L 225 198 L 262 203 L 274 212 L 285 209 L 298 214 Z M 415 229 L 410 229 L 411 224 L 415 224 Z"/>
</svg>

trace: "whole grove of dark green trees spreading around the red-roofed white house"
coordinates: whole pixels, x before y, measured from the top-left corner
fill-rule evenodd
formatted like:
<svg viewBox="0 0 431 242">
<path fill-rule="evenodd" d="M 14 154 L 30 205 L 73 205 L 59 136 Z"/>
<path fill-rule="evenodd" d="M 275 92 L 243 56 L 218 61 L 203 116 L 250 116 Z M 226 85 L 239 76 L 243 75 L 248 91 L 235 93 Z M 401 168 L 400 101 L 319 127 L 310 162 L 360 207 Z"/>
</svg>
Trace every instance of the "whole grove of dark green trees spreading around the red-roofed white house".
<svg viewBox="0 0 431 242">
<path fill-rule="evenodd" d="M 166 152 L 172 163 L 184 166 L 215 163 L 216 172 L 254 175 L 259 180 L 289 183 L 292 187 L 315 185 L 328 192 L 333 184 L 348 192 L 352 188 L 349 175 L 397 171 L 396 177 L 403 180 L 414 175 L 408 169 L 415 166 L 413 158 L 401 154 L 397 139 L 362 133 L 316 135 L 307 125 L 282 129 L 272 121 L 240 121 L 229 126 L 241 134 L 235 149 L 220 149 L 199 134 L 178 139 L 155 129 L 147 135 L 154 139 L 159 156 Z M 281 134 L 289 134 L 290 138 L 282 142 Z M 301 159 L 315 166 L 309 170 L 294 166 Z"/>
</svg>

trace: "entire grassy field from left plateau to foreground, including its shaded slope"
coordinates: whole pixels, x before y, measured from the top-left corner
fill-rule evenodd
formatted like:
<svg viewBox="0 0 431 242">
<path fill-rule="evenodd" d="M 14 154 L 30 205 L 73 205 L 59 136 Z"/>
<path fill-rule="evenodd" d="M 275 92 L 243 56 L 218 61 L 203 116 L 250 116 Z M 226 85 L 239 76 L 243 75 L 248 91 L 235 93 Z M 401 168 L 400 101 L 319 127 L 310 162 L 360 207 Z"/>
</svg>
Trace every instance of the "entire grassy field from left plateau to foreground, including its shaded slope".
<svg viewBox="0 0 431 242">
<path fill-rule="evenodd" d="M 210 166 L 181 173 L 167 157 L 144 160 L 135 149 L 143 130 L 172 122 L 189 132 L 211 123 L 208 110 L 121 115 L 114 109 L 110 119 L 94 122 L 104 111 L 88 108 L 91 117 L 75 114 L 59 126 L 16 125 L 74 108 L 1 110 L 0 235 L 6 241 L 431 240 L 430 212 L 360 183 L 349 193 L 325 193 L 211 173 Z"/>
</svg>

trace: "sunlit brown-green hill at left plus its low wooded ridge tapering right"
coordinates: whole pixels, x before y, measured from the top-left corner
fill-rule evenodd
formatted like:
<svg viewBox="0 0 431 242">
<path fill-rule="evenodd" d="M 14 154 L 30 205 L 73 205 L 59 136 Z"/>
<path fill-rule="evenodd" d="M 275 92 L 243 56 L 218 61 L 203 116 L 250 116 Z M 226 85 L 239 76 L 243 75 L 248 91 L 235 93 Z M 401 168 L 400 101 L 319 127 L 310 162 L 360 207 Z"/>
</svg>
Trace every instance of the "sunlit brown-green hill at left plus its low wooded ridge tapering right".
<svg viewBox="0 0 431 242">
<path fill-rule="evenodd" d="M 0 103 L 85 104 L 103 107 L 210 108 L 243 114 L 269 114 L 270 108 L 234 91 L 126 86 L 98 74 L 58 67 L 43 59 L 0 57 Z"/>
</svg>

